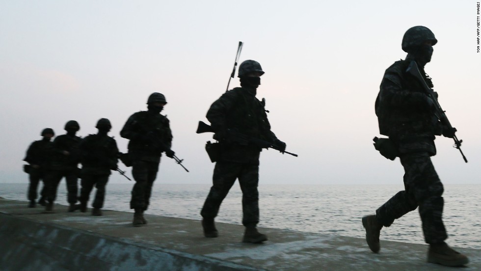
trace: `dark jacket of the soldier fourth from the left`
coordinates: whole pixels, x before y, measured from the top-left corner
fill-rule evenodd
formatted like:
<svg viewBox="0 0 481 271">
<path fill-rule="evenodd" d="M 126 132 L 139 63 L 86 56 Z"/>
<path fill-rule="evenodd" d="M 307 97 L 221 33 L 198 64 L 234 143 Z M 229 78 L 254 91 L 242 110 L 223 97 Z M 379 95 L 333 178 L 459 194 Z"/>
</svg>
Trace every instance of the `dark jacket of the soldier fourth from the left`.
<svg viewBox="0 0 481 271">
<path fill-rule="evenodd" d="M 129 156 L 133 160 L 160 162 L 162 145 L 172 145 L 169 120 L 161 114 L 139 111 L 129 117 L 120 136 L 129 139 Z"/>
</svg>

